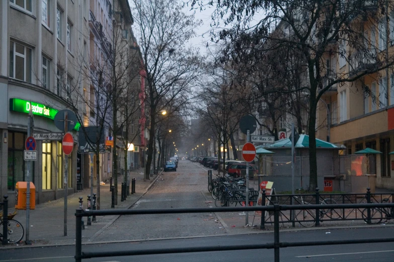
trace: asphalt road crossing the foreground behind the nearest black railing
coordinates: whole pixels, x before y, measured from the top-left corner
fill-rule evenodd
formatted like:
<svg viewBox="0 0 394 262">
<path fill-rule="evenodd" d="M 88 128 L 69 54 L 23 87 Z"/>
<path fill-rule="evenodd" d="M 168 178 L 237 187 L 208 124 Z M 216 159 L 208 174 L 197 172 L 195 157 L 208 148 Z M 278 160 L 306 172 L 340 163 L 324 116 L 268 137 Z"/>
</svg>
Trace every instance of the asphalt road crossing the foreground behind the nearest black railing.
<svg viewBox="0 0 394 262">
<path fill-rule="evenodd" d="M 307 241 L 390 237 L 394 230 L 392 227 L 385 228 L 358 228 L 358 229 L 335 229 L 308 230 L 297 232 L 282 232 L 280 241 Z M 84 245 L 83 251 L 106 251 L 106 250 L 142 250 L 152 248 L 187 247 L 187 246 L 212 246 L 212 245 L 235 245 L 239 243 L 267 243 L 273 241 L 272 233 L 251 235 L 230 235 L 198 237 L 171 240 L 150 240 L 109 244 Z M 74 246 L 37 247 L 24 249 L 0 249 L 0 262 L 3 261 L 73 261 Z M 304 246 L 282 248 L 280 261 L 393 261 L 394 248 L 392 243 L 370 243 L 352 245 L 330 246 Z M 218 252 L 194 252 L 178 254 L 157 254 L 138 256 L 119 256 L 84 259 L 83 261 L 247 261 L 259 259 L 266 261 L 274 260 L 273 250 L 233 250 Z"/>
</svg>

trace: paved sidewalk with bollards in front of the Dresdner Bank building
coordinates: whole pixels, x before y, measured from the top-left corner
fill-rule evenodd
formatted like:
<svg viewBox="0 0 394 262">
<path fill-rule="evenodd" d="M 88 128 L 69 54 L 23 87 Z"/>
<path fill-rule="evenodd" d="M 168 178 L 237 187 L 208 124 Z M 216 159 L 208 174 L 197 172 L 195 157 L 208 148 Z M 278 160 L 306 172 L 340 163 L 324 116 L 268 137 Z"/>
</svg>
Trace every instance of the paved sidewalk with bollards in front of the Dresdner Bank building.
<svg viewBox="0 0 394 262">
<path fill-rule="evenodd" d="M 147 190 L 154 184 L 159 176 L 150 177 L 151 180 L 143 181 L 143 169 L 138 169 L 130 174 L 130 179 L 135 178 L 135 194 L 130 194 L 125 201 L 121 202 L 120 192 L 123 176 L 118 177 L 118 205 L 115 209 L 130 208 Z M 131 181 L 130 181 L 131 191 Z M 96 193 L 96 187 L 93 188 Z M 36 205 L 36 209 L 30 211 L 30 240 L 32 245 L 60 245 L 73 244 L 75 242 L 75 209 L 79 208 L 79 197 L 83 197 L 83 206 L 87 208 L 90 188 L 68 195 L 67 198 L 67 236 L 64 236 L 64 199 Z M 101 209 L 111 208 L 111 192 L 109 183 L 100 186 L 100 206 Z M 13 211 L 13 209 L 11 209 Z M 87 225 L 87 218 L 84 218 L 85 230 L 82 231 L 83 243 L 92 242 L 94 238 L 111 225 L 119 216 L 98 216 L 97 222 Z M 26 239 L 26 211 L 18 210 L 15 219 L 25 227 Z M 111 239 L 108 239 L 111 240 Z M 25 245 L 21 241 L 18 245 Z M 14 246 L 14 245 L 9 245 Z M 0 245 L 0 249 L 4 247 Z"/>
</svg>

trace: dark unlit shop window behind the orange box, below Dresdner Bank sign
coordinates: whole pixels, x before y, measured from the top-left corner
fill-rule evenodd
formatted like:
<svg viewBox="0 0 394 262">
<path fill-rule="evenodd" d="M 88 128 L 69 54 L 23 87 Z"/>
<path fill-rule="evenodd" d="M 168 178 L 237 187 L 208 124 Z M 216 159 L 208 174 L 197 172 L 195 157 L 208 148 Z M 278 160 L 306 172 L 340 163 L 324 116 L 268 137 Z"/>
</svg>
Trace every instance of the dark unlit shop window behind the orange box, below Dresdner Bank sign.
<svg viewBox="0 0 394 262">
<path fill-rule="evenodd" d="M 7 189 L 15 190 L 18 181 L 25 181 L 27 162 L 23 160 L 24 142 L 27 135 L 23 133 L 8 132 L 8 174 Z M 32 161 L 30 181 L 34 183 L 34 161 Z"/>
</svg>

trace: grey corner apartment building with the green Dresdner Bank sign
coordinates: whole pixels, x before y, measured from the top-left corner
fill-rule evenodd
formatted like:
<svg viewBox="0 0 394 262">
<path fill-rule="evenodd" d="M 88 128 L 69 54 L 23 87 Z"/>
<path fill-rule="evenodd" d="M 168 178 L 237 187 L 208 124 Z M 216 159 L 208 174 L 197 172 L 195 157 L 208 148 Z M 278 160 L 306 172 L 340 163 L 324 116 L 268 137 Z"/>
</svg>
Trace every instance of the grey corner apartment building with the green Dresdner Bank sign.
<svg viewBox="0 0 394 262">
<path fill-rule="evenodd" d="M 15 200 L 15 186 L 25 181 L 23 151 L 30 108 L 34 133 L 60 133 L 53 117 L 70 108 L 70 86 L 83 89 L 83 76 L 75 65 L 87 55 L 88 1 L 5 0 L 0 3 L 0 195 Z M 67 89 L 68 88 L 68 89 Z M 75 143 L 75 130 L 71 130 Z M 64 195 L 61 142 L 37 140 L 38 159 L 31 181 L 36 203 Z M 76 192 L 76 147 L 69 161 L 68 192 Z M 78 178 L 79 179 L 79 178 Z"/>
</svg>

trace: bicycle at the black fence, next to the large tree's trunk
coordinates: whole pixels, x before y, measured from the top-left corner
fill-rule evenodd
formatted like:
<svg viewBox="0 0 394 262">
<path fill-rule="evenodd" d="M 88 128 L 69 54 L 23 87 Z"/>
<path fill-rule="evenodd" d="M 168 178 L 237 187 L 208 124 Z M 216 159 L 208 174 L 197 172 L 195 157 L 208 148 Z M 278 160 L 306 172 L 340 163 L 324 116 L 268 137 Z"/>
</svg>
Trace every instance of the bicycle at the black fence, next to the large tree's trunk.
<svg viewBox="0 0 394 262">
<path fill-rule="evenodd" d="M 300 191 L 302 188 L 297 189 L 298 194 L 300 194 Z M 301 199 L 300 204 L 301 205 L 310 205 L 309 202 L 304 201 L 302 195 L 299 196 Z M 294 198 L 297 198 L 297 196 L 294 196 Z M 338 204 L 338 202 L 334 199 L 331 198 L 326 198 L 324 200 L 319 200 L 321 205 L 330 205 L 330 204 Z M 320 219 L 323 219 L 324 216 L 328 216 L 331 219 L 339 219 L 341 215 L 336 212 L 333 208 L 332 209 L 319 209 L 319 217 Z M 311 227 L 314 226 L 316 223 L 316 211 L 313 209 L 300 209 L 300 210 L 295 210 L 294 214 L 294 219 L 297 220 L 297 222 L 304 226 L 304 227 Z"/>
</svg>

